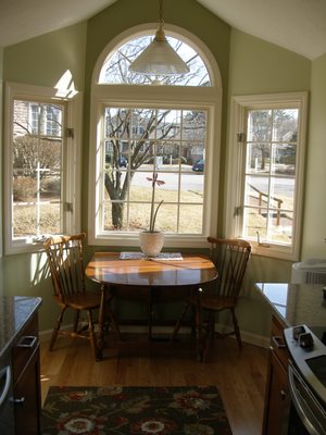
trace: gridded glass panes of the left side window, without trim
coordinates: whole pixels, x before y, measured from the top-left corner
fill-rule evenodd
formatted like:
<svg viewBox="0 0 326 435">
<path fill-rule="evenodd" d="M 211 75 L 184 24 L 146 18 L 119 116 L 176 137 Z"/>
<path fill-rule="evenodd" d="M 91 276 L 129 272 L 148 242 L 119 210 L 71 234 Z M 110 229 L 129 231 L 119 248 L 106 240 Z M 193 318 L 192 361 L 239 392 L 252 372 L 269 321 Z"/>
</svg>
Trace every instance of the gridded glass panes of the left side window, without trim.
<svg viewBox="0 0 326 435">
<path fill-rule="evenodd" d="M 62 233 L 64 104 L 13 101 L 13 239 Z"/>
</svg>

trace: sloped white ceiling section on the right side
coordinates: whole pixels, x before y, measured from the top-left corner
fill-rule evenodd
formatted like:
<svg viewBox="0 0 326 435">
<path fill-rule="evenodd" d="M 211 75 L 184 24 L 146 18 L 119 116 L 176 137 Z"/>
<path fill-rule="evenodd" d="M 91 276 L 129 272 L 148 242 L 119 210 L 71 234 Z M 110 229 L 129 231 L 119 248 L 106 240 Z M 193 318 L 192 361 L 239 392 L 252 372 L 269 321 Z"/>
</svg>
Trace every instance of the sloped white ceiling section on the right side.
<svg viewBox="0 0 326 435">
<path fill-rule="evenodd" d="M 239 30 L 314 60 L 326 52 L 326 0 L 197 0 Z"/>
</svg>

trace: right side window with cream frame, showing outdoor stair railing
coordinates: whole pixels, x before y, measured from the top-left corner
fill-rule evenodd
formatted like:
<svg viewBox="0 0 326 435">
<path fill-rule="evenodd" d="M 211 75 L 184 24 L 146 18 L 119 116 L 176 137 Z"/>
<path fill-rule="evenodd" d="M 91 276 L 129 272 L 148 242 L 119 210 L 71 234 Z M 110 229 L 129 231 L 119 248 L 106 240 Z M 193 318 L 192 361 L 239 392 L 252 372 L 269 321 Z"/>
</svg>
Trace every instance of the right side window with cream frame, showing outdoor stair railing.
<svg viewBox="0 0 326 435">
<path fill-rule="evenodd" d="M 305 107 L 304 94 L 234 99 L 239 182 L 230 232 L 260 254 L 298 257 Z"/>
</svg>

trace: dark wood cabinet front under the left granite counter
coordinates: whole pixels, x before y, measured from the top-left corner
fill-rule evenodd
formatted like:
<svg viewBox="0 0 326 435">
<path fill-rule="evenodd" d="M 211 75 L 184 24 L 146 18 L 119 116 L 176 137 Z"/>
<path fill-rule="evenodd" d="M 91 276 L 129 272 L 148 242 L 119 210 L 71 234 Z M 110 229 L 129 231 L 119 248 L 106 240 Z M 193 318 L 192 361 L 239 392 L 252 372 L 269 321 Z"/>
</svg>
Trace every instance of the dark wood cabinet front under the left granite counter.
<svg viewBox="0 0 326 435">
<path fill-rule="evenodd" d="M 40 359 L 38 315 L 33 315 L 12 349 L 13 399 L 16 435 L 40 434 Z"/>
</svg>

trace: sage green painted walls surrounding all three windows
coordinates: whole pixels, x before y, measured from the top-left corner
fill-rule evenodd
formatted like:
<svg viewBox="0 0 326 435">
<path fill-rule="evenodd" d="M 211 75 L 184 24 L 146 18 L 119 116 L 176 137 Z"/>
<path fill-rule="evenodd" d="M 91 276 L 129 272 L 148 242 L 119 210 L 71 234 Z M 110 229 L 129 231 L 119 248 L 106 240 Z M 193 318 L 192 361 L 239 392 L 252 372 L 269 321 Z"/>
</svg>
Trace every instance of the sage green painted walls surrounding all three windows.
<svg viewBox="0 0 326 435">
<path fill-rule="evenodd" d="M 226 171 L 230 96 L 311 89 L 311 114 L 314 120 L 310 122 L 305 192 L 305 202 L 311 210 L 305 213 L 304 219 L 303 253 L 313 254 L 315 247 L 310 241 L 310 235 L 315 234 L 314 237 L 317 239 L 319 232 L 324 231 L 325 234 L 322 236 L 326 236 L 326 221 L 322 217 L 317 221 L 318 228 L 314 229 L 316 222 L 314 215 L 316 213 L 325 215 L 323 213 L 325 204 L 322 207 L 319 199 L 323 195 L 321 186 L 323 183 L 325 185 L 323 162 L 326 147 L 323 138 L 326 137 L 324 79 L 326 58 L 310 62 L 288 50 L 230 29 L 195 0 L 165 0 L 164 18 L 166 23 L 181 26 L 199 37 L 209 47 L 221 70 L 224 95 L 221 194 L 225 188 L 224 181 L 227 179 L 227 173 L 224 171 Z M 88 23 L 33 38 L 3 50 L 5 80 L 54 86 L 62 74 L 71 70 L 76 88 L 85 90 L 83 228 L 87 228 L 89 89 L 95 63 L 104 47 L 116 35 L 141 23 L 155 23 L 156 20 L 156 3 L 152 0 L 138 0 L 137 8 L 134 0 L 120 0 Z M 2 51 L 0 60 L 1 54 Z M 319 156 L 323 156 L 323 159 L 319 159 Z M 314 167 L 317 167 L 318 176 L 312 177 Z M 220 232 L 223 233 L 225 200 L 223 195 L 220 198 L 222 217 Z M 91 250 L 89 249 L 88 256 Z M 39 295 L 43 298 L 40 327 L 51 328 L 58 311 L 53 309 L 51 282 L 47 277 L 43 257 L 40 254 L 4 257 L 0 260 L 0 271 L 1 268 L 7 294 Z M 288 261 L 252 256 L 238 310 L 241 328 L 253 335 L 268 335 L 271 312 L 253 289 L 253 283 L 288 281 L 290 270 L 291 263 Z"/>
</svg>

